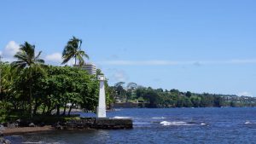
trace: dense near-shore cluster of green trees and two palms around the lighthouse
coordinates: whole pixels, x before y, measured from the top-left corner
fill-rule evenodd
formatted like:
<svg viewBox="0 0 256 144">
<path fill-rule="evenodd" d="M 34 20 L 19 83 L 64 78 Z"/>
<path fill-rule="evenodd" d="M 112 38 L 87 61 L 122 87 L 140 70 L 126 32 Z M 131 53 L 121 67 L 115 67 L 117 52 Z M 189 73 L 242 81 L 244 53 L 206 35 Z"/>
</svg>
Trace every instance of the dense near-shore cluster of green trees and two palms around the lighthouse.
<svg viewBox="0 0 256 144">
<path fill-rule="evenodd" d="M 63 50 L 63 63 L 73 57 L 84 64 L 81 40 L 73 37 Z M 0 121 L 35 115 L 70 115 L 72 108 L 96 111 L 99 82 L 79 66 L 47 66 L 35 55 L 35 46 L 25 42 L 11 64 L 1 62 Z M 97 71 L 101 73 L 100 70 Z M 106 82 L 107 104 L 112 100 Z M 17 117 L 18 116 L 18 117 Z"/>
</svg>

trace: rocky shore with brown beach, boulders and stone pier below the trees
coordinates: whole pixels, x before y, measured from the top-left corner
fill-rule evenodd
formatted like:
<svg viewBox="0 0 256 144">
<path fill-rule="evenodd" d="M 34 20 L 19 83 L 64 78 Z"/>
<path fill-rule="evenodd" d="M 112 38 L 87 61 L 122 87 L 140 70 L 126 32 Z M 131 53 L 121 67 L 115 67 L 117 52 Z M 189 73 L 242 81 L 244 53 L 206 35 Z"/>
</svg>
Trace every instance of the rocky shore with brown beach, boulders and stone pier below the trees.
<svg viewBox="0 0 256 144">
<path fill-rule="evenodd" d="M 34 132 L 48 132 L 53 130 L 120 130 L 132 129 L 131 119 L 114 118 L 81 118 L 69 120 L 67 122 L 57 122 L 51 125 L 24 124 L 18 120 L 13 124 L 0 124 L 0 144 L 9 144 L 10 141 L 4 139 L 6 135 L 18 135 Z"/>
</svg>

